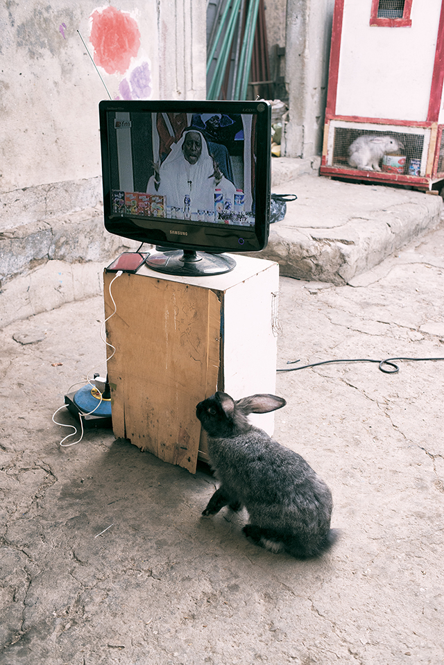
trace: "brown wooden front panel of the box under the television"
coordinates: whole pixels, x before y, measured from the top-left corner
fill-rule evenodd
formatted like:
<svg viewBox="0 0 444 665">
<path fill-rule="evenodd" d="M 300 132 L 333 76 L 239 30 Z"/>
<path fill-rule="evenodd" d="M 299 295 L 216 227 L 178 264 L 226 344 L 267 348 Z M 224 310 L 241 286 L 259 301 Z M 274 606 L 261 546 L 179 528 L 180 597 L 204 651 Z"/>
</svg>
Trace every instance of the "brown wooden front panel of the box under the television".
<svg viewBox="0 0 444 665">
<path fill-rule="evenodd" d="M 105 314 L 114 306 L 104 275 Z M 107 323 L 117 349 L 108 362 L 117 437 L 196 470 L 196 404 L 217 389 L 221 304 L 206 288 L 123 274 L 112 285 Z"/>
</svg>

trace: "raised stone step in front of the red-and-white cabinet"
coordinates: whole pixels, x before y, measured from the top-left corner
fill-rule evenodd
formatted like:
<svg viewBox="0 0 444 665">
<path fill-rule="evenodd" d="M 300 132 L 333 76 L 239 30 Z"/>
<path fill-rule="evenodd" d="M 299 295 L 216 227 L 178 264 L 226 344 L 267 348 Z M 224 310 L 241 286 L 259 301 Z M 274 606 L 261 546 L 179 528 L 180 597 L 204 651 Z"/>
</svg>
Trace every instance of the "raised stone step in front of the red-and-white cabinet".
<svg viewBox="0 0 444 665">
<path fill-rule="evenodd" d="M 350 283 L 436 227 L 443 210 L 441 196 L 306 174 L 272 189 L 298 199 L 255 255 L 278 261 L 281 275 L 333 284 Z"/>
</svg>

